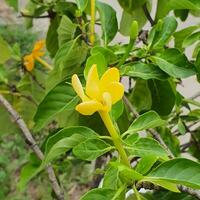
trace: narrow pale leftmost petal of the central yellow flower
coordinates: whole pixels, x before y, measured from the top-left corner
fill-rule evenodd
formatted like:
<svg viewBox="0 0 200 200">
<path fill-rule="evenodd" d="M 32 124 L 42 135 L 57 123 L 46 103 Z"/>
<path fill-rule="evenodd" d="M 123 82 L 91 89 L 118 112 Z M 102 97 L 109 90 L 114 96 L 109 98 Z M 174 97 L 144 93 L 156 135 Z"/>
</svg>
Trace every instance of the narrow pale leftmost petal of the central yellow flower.
<svg viewBox="0 0 200 200">
<path fill-rule="evenodd" d="M 87 97 L 83 91 L 83 87 L 81 82 L 76 74 L 72 76 L 72 87 L 74 88 L 77 95 L 82 99 L 82 101 L 86 101 Z"/>
</svg>

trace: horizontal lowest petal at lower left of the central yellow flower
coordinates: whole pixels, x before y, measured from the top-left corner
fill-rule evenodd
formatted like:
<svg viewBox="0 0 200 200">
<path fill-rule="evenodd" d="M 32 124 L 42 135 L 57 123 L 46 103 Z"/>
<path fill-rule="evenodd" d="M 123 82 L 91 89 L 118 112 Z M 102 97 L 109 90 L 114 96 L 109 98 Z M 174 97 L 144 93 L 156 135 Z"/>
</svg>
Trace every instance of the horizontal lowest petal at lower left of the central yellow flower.
<svg viewBox="0 0 200 200">
<path fill-rule="evenodd" d="M 80 103 L 76 106 L 76 110 L 82 115 L 92 115 L 98 110 L 102 110 L 103 105 L 98 101 L 91 100 Z"/>
</svg>

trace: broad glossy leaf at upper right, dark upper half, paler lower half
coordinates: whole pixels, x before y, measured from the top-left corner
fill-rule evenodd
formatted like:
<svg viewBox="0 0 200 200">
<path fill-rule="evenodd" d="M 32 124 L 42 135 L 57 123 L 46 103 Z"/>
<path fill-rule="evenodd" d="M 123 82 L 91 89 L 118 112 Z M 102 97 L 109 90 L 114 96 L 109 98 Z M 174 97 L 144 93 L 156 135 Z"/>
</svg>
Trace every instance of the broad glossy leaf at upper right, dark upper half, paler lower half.
<svg viewBox="0 0 200 200">
<path fill-rule="evenodd" d="M 177 49 L 167 49 L 159 56 L 151 56 L 151 61 L 160 69 L 175 78 L 195 75 L 195 67 Z"/>
</svg>

